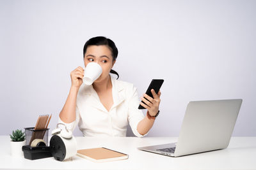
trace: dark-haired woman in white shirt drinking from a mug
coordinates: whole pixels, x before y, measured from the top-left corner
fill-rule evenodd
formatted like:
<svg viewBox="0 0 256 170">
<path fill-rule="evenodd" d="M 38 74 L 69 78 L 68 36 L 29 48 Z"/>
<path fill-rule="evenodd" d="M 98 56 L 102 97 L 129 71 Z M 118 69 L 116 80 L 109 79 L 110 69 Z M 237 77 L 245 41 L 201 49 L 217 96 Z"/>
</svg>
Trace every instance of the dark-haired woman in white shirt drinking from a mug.
<svg viewBox="0 0 256 170">
<path fill-rule="evenodd" d="M 102 67 L 102 74 L 92 85 L 84 85 L 83 67 L 77 67 L 70 73 L 72 85 L 67 101 L 60 112 L 59 123 L 67 125 L 71 131 L 76 124 L 83 136 L 126 136 L 128 123 L 132 132 L 145 136 L 154 124 L 161 92 L 152 89 L 153 97 L 144 94 L 140 103 L 136 88 L 125 81 L 115 80 L 109 73 L 116 62 L 118 50 L 111 39 L 99 36 L 89 39 L 83 50 L 84 66 L 97 62 Z M 138 106 L 147 108 L 144 117 Z"/>
</svg>

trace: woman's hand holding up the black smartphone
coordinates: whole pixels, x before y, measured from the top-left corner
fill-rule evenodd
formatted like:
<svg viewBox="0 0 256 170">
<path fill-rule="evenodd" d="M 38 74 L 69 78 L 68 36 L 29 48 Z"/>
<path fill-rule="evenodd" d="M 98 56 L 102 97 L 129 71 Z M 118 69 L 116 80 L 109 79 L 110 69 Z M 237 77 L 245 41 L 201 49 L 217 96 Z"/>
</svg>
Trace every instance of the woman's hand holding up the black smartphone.
<svg viewBox="0 0 256 170">
<path fill-rule="evenodd" d="M 151 89 L 151 93 L 154 98 L 148 96 L 147 94 L 143 94 L 144 97 L 141 97 L 141 100 L 145 103 L 140 103 L 141 106 L 148 110 L 148 114 L 152 117 L 156 116 L 157 112 L 159 111 L 159 104 L 160 104 L 160 96 L 161 92 L 159 90 L 158 94 L 156 94 L 154 89 Z M 147 100 L 148 99 L 148 100 Z"/>
</svg>

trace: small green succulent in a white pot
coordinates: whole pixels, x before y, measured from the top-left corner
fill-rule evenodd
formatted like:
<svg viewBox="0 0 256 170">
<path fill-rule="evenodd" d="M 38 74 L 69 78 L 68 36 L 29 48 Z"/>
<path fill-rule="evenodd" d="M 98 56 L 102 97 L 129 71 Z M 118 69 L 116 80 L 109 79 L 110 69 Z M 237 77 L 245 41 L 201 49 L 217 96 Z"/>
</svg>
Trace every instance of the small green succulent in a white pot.
<svg viewBox="0 0 256 170">
<path fill-rule="evenodd" d="M 24 157 L 22 146 L 26 145 L 25 132 L 17 129 L 12 131 L 11 137 L 11 155 L 13 157 Z"/>
</svg>

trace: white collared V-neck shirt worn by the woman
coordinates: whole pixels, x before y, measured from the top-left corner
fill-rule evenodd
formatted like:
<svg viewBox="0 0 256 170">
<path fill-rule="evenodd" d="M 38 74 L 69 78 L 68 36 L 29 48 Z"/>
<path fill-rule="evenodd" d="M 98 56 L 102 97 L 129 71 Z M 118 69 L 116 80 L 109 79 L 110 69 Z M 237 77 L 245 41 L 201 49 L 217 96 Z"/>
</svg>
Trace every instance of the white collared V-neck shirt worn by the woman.
<svg viewBox="0 0 256 170">
<path fill-rule="evenodd" d="M 138 109 L 140 101 L 136 87 L 132 83 L 115 80 L 112 76 L 110 77 L 113 106 L 109 111 L 100 102 L 93 86 L 84 85 L 83 83 L 77 94 L 76 120 L 66 124 L 59 117 L 58 122 L 67 125 L 67 128 L 71 131 L 74 131 L 78 123 L 83 136 L 119 137 L 126 136 L 129 123 L 134 135 L 142 137 L 137 131 L 137 125 L 144 118 L 144 115 Z"/>
</svg>

